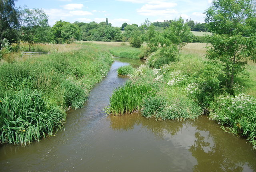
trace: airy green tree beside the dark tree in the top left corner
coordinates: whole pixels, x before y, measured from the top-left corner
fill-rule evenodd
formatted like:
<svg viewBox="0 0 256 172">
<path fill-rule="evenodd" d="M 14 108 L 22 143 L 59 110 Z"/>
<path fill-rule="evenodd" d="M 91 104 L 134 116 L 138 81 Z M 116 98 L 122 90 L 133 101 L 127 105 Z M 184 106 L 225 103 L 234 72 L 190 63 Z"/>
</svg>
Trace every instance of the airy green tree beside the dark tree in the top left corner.
<svg viewBox="0 0 256 172">
<path fill-rule="evenodd" d="M 36 43 L 48 41 L 48 17 L 42 9 L 24 9 L 22 11 L 22 40 L 28 43 L 28 50 Z"/>
</svg>

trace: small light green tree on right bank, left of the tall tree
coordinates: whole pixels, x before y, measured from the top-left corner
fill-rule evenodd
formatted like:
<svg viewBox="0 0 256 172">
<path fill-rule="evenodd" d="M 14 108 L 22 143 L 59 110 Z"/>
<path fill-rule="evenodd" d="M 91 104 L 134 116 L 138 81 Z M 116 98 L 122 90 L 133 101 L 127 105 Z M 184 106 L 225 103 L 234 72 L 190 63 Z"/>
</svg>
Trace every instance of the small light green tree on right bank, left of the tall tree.
<svg viewBox="0 0 256 172">
<path fill-rule="evenodd" d="M 166 46 L 171 44 L 178 46 L 178 58 L 180 56 L 180 49 L 192 40 L 192 33 L 190 27 L 184 24 L 184 20 L 180 17 L 179 20 L 174 20 L 170 23 L 170 27 L 164 32 L 164 42 Z"/>
</svg>

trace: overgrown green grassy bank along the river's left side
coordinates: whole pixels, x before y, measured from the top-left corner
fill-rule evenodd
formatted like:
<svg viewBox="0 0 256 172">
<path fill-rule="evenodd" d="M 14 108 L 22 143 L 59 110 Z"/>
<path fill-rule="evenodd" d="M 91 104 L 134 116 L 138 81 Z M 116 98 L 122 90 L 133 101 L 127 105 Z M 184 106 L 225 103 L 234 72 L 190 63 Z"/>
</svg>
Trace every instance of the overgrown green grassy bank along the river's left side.
<svg viewBox="0 0 256 172">
<path fill-rule="evenodd" d="M 107 50 L 92 44 L 37 46 L 36 51 L 52 53 L 39 57 L 10 54 L 1 62 L 2 143 L 26 144 L 62 128 L 64 110 L 82 107 L 113 62 Z"/>
</svg>

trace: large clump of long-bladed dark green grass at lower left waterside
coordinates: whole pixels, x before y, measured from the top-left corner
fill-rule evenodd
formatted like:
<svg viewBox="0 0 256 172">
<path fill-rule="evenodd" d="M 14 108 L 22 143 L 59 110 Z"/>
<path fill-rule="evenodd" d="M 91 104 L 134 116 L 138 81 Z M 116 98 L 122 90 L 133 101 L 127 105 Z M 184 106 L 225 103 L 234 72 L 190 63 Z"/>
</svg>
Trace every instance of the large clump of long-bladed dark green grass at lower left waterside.
<svg viewBox="0 0 256 172">
<path fill-rule="evenodd" d="M 24 88 L 0 98 L 2 143 L 27 144 L 61 129 L 66 113 L 52 106 L 42 92 Z"/>
</svg>

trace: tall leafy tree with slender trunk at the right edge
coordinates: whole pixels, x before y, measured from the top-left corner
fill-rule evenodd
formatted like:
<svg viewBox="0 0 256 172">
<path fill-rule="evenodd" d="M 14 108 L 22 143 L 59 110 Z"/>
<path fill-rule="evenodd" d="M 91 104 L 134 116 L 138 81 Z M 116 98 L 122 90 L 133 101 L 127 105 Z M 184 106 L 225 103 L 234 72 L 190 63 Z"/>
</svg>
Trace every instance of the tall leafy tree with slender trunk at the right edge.
<svg viewBox="0 0 256 172">
<path fill-rule="evenodd" d="M 244 74 L 247 59 L 255 51 L 255 1 L 215 0 L 205 14 L 214 33 L 206 57 L 223 64 L 226 86 L 234 94 L 234 78 Z"/>
</svg>

